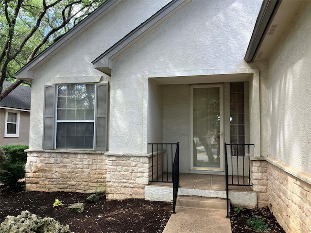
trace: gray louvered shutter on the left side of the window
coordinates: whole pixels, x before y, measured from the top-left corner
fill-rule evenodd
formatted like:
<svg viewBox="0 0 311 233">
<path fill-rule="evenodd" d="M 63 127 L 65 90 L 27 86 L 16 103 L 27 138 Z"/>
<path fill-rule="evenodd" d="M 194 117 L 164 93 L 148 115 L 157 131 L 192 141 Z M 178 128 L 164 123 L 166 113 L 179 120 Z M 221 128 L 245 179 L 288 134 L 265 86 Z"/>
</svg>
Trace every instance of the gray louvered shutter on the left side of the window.
<svg viewBox="0 0 311 233">
<path fill-rule="evenodd" d="M 54 149 L 55 85 L 44 86 L 42 149 Z"/>
</svg>

